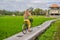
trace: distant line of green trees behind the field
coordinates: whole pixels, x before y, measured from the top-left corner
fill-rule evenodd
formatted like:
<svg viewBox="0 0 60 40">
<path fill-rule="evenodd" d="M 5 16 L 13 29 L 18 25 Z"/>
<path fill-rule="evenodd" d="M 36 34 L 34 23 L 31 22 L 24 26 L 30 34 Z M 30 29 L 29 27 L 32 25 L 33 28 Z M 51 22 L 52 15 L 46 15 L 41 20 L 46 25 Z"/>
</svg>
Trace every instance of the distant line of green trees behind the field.
<svg viewBox="0 0 60 40">
<path fill-rule="evenodd" d="M 32 15 L 46 15 L 46 10 L 40 9 L 40 8 L 30 8 L 31 14 Z M 24 11 L 19 12 L 19 11 L 7 11 L 7 10 L 0 10 L 0 15 L 23 15 Z"/>
</svg>

